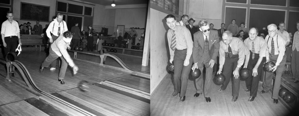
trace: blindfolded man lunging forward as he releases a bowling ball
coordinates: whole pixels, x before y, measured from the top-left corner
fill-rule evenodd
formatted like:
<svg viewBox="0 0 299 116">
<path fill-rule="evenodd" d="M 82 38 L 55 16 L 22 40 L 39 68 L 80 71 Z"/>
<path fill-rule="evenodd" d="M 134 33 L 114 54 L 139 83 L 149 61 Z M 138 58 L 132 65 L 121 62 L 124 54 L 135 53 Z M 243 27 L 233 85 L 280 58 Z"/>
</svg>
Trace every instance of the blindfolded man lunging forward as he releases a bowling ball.
<svg viewBox="0 0 299 116">
<path fill-rule="evenodd" d="M 61 59 L 61 68 L 59 71 L 58 81 L 60 84 L 64 84 L 64 77 L 65 77 L 65 71 L 70 65 L 73 68 L 74 74 L 77 73 L 79 68 L 77 65 L 75 65 L 74 61 L 71 59 L 70 55 L 68 54 L 68 51 L 66 49 L 68 48 L 68 44 L 72 40 L 72 33 L 70 31 L 64 32 L 62 35 L 60 35 L 56 41 L 54 41 L 50 47 L 49 50 L 49 56 L 42 62 L 42 66 L 39 69 L 40 73 L 43 73 L 44 68 L 48 67 L 51 62 L 56 60 L 58 57 Z"/>
</svg>

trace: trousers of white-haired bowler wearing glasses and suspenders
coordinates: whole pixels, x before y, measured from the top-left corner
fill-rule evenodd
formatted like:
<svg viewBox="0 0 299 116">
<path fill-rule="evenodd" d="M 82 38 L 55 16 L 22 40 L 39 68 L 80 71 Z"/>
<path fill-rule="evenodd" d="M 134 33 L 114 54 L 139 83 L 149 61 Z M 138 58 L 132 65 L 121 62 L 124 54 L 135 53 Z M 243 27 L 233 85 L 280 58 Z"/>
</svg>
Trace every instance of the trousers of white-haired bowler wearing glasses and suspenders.
<svg viewBox="0 0 299 116">
<path fill-rule="evenodd" d="M 273 57 L 271 57 L 271 55 L 269 55 L 270 61 L 272 61 L 274 63 L 276 63 L 277 57 L 278 57 L 278 54 L 274 55 Z M 273 99 L 278 99 L 280 80 L 281 80 L 281 75 L 282 75 L 285 64 L 286 64 L 286 54 L 284 54 L 282 61 L 277 66 L 277 69 L 275 71 L 276 75 L 275 75 L 275 81 L 274 81 L 273 92 L 272 92 Z M 270 90 L 272 80 L 273 80 L 273 72 L 266 72 L 265 80 L 263 81 L 263 90 L 264 91 L 267 92 Z"/>
</svg>

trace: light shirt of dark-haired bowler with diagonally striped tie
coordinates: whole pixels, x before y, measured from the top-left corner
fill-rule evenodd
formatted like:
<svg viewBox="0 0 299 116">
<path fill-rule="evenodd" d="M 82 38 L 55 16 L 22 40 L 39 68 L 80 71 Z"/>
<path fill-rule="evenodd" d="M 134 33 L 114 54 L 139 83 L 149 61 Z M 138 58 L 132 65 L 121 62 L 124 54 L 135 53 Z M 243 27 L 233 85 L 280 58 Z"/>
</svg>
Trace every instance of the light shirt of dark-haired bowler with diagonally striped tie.
<svg viewBox="0 0 299 116">
<path fill-rule="evenodd" d="M 190 31 L 185 28 L 184 26 L 176 25 L 176 27 L 173 29 L 175 30 L 176 34 L 176 49 L 178 50 L 184 50 L 187 48 L 187 56 L 186 59 L 190 59 L 192 54 L 192 48 L 193 48 L 193 42 Z M 174 57 L 174 50 L 171 49 L 171 39 L 173 30 L 169 29 L 167 32 L 167 39 L 168 39 L 168 47 L 170 51 L 170 59 L 173 59 Z"/>
</svg>

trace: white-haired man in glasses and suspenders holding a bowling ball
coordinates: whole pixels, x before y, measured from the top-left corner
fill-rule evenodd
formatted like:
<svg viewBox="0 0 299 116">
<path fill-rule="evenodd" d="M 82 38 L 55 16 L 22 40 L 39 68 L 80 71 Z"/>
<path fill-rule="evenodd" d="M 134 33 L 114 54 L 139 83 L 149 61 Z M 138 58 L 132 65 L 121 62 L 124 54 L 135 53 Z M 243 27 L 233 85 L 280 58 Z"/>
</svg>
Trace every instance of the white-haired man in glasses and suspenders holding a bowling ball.
<svg viewBox="0 0 299 116">
<path fill-rule="evenodd" d="M 273 72 L 276 71 L 275 82 L 273 86 L 272 99 L 274 104 L 278 103 L 278 91 L 280 88 L 281 75 L 286 63 L 286 41 L 282 36 L 277 34 L 277 26 L 275 24 L 268 25 L 268 35 L 265 40 L 266 46 L 266 62 L 272 61 L 275 63 L 272 72 L 266 72 L 265 80 L 263 82 L 263 90 L 260 93 L 265 93 L 270 90 Z"/>
</svg>

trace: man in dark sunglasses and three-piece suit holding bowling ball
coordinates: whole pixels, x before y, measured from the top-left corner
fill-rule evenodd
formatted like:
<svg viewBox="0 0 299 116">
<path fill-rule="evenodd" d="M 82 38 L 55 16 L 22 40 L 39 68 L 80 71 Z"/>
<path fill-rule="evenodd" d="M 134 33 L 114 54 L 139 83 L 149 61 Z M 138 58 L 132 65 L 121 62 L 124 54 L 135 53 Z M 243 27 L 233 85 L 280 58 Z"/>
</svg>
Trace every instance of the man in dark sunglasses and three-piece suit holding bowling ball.
<svg viewBox="0 0 299 116">
<path fill-rule="evenodd" d="M 207 20 L 200 20 L 198 32 L 194 33 L 193 43 L 193 59 L 194 64 L 192 70 L 195 68 L 200 69 L 201 74 L 203 71 L 203 65 L 206 68 L 205 84 L 203 83 L 203 76 L 195 79 L 196 93 L 194 97 L 198 97 L 204 92 L 206 102 L 211 102 L 210 91 L 211 91 L 211 79 L 215 60 L 219 52 L 219 36 L 216 30 L 211 30 L 209 22 Z M 203 85 L 205 90 L 203 91 Z"/>
</svg>

